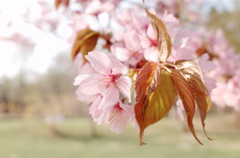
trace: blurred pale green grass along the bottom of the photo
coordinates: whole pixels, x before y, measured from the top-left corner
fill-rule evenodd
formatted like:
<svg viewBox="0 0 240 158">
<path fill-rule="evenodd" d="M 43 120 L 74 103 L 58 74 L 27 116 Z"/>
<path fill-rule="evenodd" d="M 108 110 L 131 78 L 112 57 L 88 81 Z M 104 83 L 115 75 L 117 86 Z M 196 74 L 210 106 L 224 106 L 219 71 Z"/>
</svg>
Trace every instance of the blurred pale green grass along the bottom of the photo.
<svg viewBox="0 0 240 158">
<path fill-rule="evenodd" d="M 91 120 L 67 119 L 58 124 L 58 135 L 41 120 L 0 120 L 0 158 L 239 158 L 240 129 L 233 115 L 209 116 L 206 130 L 199 118 L 196 133 L 199 145 L 182 123 L 164 118 L 146 129 L 146 146 L 139 146 L 138 132 L 127 126 L 120 135 L 108 126 L 96 125 L 98 136 L 91 136 Z"/>
</svg>

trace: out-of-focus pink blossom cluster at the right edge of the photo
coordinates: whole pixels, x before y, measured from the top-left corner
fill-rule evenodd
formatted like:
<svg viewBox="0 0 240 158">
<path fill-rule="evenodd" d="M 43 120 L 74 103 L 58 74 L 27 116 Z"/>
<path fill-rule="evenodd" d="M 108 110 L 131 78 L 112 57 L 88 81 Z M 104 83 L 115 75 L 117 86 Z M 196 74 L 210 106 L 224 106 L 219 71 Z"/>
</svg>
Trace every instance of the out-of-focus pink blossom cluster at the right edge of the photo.
<svg viewBox="0 0 240 158">
<path fill-rule="evenodd" d="M 217 66 L 208 73 L 208 76 L 217 80 L 217 86 L 211 93 L 212 101 L 220 107 L 230 106 L 239 111 L 240 54 L 229 45 L 221 30 L 217 30 L 216 34 L 205 29 L 199 30 L 195 36 L 195 46 L 198 55 L 209 54 Z"/>
</svg>

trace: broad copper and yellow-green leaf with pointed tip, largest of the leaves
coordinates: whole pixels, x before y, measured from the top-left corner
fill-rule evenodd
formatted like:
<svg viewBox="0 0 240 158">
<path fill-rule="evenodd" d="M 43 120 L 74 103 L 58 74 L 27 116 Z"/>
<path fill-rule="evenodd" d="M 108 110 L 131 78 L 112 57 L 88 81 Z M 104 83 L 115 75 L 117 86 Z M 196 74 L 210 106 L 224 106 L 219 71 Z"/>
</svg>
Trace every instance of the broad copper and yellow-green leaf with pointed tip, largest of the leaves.
<svg viewBox="0 0 240 158">
<path fill-rule="evenodd" d="M 140 127 L 140 145 L 143 132 L 149 125 L 158 122 L 171 109 L 175 89 L 170 74 L 160 69 L 156 63 L 149 62 L 140 70 L 136 81 L 136 120 Z"/>
</svg>

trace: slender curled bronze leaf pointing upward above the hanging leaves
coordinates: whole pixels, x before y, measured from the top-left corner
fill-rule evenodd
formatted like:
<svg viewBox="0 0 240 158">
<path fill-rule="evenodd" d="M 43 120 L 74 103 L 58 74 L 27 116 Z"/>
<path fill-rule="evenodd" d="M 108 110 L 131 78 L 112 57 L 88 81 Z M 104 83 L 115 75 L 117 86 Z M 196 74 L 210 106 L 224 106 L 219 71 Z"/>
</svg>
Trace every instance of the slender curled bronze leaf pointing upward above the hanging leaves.
<svg viewBox="0 0 240 158">
<path fill-rule="evenodd" d="M 147 13 L 147 16 L 150 18 L 152 27 L 156 34 L 158 50 L 160 52 L 159 60 L 165 62 L 171 54 L 171 38 L 163 22 L 156 15 L 151 14 L 147 9 L 145 9 L 145 11 Z"/>
</svg>

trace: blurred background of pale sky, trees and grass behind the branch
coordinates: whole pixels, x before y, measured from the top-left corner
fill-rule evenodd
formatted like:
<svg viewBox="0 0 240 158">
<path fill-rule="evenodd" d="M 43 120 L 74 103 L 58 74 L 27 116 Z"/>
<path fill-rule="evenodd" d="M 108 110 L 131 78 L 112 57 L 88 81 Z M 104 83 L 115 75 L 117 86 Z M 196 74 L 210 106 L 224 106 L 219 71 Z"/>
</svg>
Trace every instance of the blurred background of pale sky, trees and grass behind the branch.
<svg viewBox="0 0 240 158">
<path fill-rule="evenodd" d="M 240 52 L 239 1 L 198 2 L 204 26 L 213 32 L 222 29 L 229 45 Z M 213 105 L 209 112 L 206 130 L 212 141 L 204 136 L 199 117 L 194 120 L 204 146 L 174 108 L 146 130 L 148 144 L 143 147 L 130 126 L 117 135 L 95 124 L 73 86 L 79 65 L 72 62 L 71 48 L 76 31 L 87 25 L 76 15 L 64 6 L 56 10 L 54 0 L 0 0 L 1 158 L 240 157 L 240 115 L 229 106 Z M 198 25 L 203 23 L 191 22 L 191 27 Z"/>
</svg>

